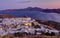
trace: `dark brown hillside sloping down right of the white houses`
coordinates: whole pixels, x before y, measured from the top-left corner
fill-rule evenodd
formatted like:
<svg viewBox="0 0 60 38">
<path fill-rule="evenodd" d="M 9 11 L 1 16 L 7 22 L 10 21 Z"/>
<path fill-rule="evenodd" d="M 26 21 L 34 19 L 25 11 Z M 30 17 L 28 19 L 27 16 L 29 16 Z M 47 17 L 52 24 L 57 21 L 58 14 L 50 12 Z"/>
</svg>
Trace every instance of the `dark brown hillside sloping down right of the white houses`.
<svg viewBox="0 0 60 38">
<path fill-rule="evenodd" d="M 43 21 L 43 20 L 36 20 L 41 24 L 47 25 L 47 26 L 51 26 L 57 30 L 60 31 L 60 23 L 59 22 L 54 22 L 54 21 Z"/>
</svg>

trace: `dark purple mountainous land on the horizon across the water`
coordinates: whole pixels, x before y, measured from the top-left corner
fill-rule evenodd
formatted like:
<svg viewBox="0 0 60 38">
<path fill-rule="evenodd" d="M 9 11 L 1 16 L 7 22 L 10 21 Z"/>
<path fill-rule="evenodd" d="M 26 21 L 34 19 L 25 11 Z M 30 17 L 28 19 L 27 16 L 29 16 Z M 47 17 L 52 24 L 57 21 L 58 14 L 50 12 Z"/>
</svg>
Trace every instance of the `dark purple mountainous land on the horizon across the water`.
<svg viewBox="0 0 60 38">
<path fill-rule="evenodd" d="M 41 12 L 45 12 L 45 13 L 60 13 L 60 9 L 43 9 L 43 8 L 39 8 L 39 7 L 28 7 L 28 8 L 24 8 L 24 9 L 7 9 L 7 10 L 2 10 L 2 11 L 41 11 Z"/>
</svg>

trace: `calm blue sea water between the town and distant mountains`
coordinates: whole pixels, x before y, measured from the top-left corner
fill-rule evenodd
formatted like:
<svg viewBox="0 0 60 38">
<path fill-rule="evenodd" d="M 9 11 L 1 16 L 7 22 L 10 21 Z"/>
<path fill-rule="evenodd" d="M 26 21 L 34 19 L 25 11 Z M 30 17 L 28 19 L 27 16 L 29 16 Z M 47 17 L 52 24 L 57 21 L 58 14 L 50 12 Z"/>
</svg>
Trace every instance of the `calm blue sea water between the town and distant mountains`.
<svg viewBox="0 0 60 38">
<path fill-rule="evenodd" d="M 16 17 L 29 16 L 34 19 L 52 20 L 60 22 L 60 14 L 57 13 L 43 13 L 40 11 L 17 11 L 17 12 L 0 12 L 0 14 L 9 14 Z"/>
</svg>

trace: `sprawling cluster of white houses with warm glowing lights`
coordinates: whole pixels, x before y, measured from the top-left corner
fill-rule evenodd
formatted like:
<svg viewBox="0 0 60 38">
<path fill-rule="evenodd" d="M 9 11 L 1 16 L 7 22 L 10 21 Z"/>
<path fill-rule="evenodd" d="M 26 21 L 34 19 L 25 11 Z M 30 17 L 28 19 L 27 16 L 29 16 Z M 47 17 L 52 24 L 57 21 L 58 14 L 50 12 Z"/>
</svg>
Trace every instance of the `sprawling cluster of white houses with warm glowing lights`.
<svg viewBox="0 0 60 38">
<path fill-rule="evenodd" d="M 32 23 L 35 25 L 39 25 L 41 28 L 32 27 Z M 20 30 L 18 30 L 20 29 Z M 1 18 L 0 19 L 0 35 L 6 35 L 8 33 L 16 33 L 16 32 L 26 32 L 34 34 L 35 31 L 43 31 L 43 32 L 54 32 L 59 33 L 59 31 L 55 29 L 45 28 L 44 25 L 39 24 L 34 19 L 30 17 L 20 17 L 20 18 Z M 41 32 L 37 32 L 37 34 L 41 34 Z"/>
</svg>

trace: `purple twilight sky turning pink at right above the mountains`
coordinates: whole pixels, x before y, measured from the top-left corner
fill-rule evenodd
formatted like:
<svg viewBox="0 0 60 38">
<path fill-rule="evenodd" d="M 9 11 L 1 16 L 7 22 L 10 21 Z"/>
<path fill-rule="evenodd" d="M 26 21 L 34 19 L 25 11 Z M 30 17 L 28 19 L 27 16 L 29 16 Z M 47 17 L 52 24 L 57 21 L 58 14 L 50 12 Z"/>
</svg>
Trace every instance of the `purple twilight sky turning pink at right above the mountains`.
<svg viewBox="0 0 60 38">
<path fill-rule="evenodd" d="M 0 0 L 0 10 L 27 7 L 60 8 L 60 0 Z"/>
</svg>

